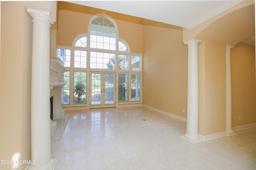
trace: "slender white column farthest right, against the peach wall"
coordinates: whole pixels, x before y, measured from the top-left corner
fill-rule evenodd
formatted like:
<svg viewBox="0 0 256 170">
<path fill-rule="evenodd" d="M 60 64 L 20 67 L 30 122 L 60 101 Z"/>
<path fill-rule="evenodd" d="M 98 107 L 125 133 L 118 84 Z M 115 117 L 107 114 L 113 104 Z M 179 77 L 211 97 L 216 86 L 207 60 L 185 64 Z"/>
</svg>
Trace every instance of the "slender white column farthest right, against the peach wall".
<svg viewBox="0 0 256 170">
<path fill-rule="evenodd" d="M 228 136 L 236 135 L 232 130 L 232 99 L 231 99 L 231 66 L 230 49 L 233 45 L 226 45 L 226 132 Z"/>
</svg>

